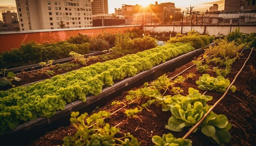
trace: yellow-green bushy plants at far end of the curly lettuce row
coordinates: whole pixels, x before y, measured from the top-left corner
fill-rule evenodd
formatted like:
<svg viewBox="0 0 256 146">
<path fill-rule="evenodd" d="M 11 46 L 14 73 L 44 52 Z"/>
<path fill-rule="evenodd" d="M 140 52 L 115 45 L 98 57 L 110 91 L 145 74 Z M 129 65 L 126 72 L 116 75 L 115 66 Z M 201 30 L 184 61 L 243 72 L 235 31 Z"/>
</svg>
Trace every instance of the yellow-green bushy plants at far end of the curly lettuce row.
<svg viewBox="0 0 256 146">
<path fill-rule="evenodd" d="M 176 35 L 170 38 L 169 43 L 183 42 L 190 43 L 195 49 L 202 48 L 214 40 L 213 36 L 200 35 L 198 32 L 191 31 L 187 35 Z"/>
</svg>

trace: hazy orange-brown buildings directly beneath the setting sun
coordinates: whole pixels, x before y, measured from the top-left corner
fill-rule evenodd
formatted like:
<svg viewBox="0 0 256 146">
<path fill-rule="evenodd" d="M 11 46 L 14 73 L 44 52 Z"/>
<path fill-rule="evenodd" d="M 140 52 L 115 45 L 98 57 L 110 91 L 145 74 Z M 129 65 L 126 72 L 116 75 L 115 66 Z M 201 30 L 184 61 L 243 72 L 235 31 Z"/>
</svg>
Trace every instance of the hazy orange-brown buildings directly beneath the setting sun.
<svg viewBox="0 0 256 146">
<path fill-rule="evenodd" d="M 176 9 L 172 2 L 150 4 L 148 7 L 141 5 L 123 4 L 126 24 L 171 24 L 182 18 L 181 9 Z"/>
</svg>

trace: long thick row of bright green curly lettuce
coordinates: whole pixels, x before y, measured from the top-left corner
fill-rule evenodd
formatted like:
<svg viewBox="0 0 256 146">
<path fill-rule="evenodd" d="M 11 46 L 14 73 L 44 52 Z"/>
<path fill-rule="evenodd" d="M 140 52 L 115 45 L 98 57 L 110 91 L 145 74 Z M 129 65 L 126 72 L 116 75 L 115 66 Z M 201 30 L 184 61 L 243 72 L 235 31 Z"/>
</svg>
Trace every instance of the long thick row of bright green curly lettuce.
<svg viewBox="0 0 256 146">
<path fill-rule="evenodd" d="M 51 117 L 56 110 L 64 109 L 66 101 L 78 98 L 85 102 L 86 95 L 99 95 L 103 86 L 114 84 L 113 80 L 134 76 L 192 50 L 190 44 L 166 44 L 56 75 L 51 80 L 0 91 L 0 133 L 15 128 L 22 121 L 38 116 Z"/>
</svg>

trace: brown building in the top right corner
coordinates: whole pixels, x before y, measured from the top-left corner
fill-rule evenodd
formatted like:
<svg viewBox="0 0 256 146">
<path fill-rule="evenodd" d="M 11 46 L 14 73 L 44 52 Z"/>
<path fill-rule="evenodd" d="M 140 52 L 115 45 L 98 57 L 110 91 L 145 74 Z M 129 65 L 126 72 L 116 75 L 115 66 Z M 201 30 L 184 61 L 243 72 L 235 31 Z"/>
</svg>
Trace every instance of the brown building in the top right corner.
<svg viewBox="0 0 256 146">
<path fill-rule="evenodd" d="M 224 11 L 255 10 L 256 0 L 225 0 Z"/>
</svg>

